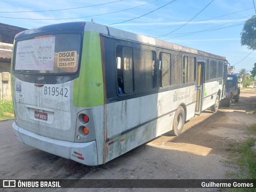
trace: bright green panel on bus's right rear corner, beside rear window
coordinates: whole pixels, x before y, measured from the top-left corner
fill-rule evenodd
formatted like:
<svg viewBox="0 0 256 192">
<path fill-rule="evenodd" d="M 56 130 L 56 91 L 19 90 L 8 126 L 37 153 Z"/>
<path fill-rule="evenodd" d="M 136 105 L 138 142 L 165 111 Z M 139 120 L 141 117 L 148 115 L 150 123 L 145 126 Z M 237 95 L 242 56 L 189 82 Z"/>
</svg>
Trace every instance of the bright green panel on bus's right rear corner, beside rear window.
<svg viewBox="0 0 256 192">
<path fill-rule="evenodd" d="M 84 32 L 79 78 L 73 84 L 73 104 L 93 107 L 104 104 L 100 34 Z"/>
</svg>

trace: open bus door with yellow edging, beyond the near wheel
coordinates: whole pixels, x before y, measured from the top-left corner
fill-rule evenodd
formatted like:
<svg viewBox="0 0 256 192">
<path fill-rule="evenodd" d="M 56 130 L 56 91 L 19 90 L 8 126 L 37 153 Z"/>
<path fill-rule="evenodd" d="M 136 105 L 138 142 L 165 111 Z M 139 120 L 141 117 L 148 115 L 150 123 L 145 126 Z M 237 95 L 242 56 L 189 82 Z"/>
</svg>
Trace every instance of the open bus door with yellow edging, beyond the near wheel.
<svg viewBox="0 0 256 192">
<path fill-rule="evenodd" d="M 197 80 L 196 80 L 196 110 L 195 114 L 200 115 L 204 99 L 204 62 L 197 62 Z"/>
</svg>

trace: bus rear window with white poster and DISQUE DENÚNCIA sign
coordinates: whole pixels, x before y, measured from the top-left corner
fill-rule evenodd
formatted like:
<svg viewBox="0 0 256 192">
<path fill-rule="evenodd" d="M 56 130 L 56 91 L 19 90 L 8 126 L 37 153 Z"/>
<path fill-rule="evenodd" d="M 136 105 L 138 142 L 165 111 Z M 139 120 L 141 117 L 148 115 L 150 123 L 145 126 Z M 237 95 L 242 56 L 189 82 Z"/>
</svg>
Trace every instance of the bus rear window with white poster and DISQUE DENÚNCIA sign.
<svg viewBox="0 0 256 192">
<path fill-rule="evenodd" d="M 14 70 L 25 73 L 75 73 L 80 49 L 80 34 L 54 34 L 21 40 L 16 43 Z"/>
</svg>

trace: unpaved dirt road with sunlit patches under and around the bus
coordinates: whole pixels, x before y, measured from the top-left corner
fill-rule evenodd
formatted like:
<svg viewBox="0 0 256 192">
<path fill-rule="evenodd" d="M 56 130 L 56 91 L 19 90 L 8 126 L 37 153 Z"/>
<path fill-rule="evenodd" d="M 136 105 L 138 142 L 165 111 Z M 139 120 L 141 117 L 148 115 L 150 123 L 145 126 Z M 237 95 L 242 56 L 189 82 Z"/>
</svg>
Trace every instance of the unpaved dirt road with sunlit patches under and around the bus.
<svg viewBox="0 0 256 192">
<path fill-rule="evenodd" d="M 180 136 L 164 134 L 147 144 L 102 165 L 85 166 L 21 144 L 14 138 L 13 120 L 0 122 L 1 179 L 228 179 L 226 172 L 238 172 L 227 164 L 230 142 L 251 137 L 246 128 L 256 123 L 256 89 L 241 90 L 232 106 L 221 105 L 218 112 L 205 110 L 184 125 Z M 3 189 L 21 191 L 18 189 Z M 35 191 L 35 189 L 22 189 Z M 219 191 L 213 189 L 67 188 L 36 191 Z"/>
</svg>

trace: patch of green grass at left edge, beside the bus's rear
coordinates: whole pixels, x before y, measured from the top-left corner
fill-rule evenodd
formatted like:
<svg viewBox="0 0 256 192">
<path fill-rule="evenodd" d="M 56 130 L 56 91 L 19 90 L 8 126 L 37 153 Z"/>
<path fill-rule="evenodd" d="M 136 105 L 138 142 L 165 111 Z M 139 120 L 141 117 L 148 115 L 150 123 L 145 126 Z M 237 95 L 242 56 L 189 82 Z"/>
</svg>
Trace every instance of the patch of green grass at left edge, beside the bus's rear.
<svg viewBox="0 0 256 192">
<path fill-rule="evenodd" d="M 0 120 L 13 119 L 13 103 L 12 101 L 0 100 Z"/>
</svg>

